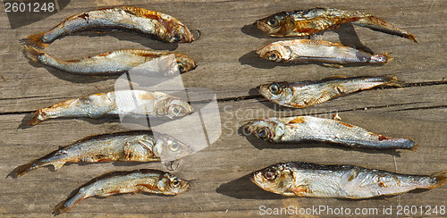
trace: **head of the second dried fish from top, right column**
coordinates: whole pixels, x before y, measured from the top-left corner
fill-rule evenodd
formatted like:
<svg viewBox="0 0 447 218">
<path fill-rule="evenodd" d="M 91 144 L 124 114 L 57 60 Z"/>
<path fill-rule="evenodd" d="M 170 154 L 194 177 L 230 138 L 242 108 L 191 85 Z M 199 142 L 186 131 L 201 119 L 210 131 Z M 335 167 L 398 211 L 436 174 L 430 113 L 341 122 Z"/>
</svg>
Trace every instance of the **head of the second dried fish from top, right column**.
<svg viewBox="0 0 447 218">
<path fill-rule="evenodd" d="M 256 54 L 261 58 L 276 63 L 286 62 L 291 59 L 292 55 L 290 46 L 284 46 L 281 42 L 264 46 L 258 49 Z"/>
</svg>

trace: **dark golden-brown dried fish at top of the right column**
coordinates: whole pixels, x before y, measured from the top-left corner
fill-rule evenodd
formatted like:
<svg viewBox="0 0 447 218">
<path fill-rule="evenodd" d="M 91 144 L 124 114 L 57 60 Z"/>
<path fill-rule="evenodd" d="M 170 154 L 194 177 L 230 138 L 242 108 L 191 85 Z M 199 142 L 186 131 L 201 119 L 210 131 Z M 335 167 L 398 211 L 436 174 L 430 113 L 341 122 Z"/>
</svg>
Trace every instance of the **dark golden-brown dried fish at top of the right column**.
<svg viewBox="0 0 447 218">
<path fill-rule="evenodd" d="M 409 38 L 417 43 L 416 37 L 397 29 L 384 20 L 368 13 L 348 12 L 334 8 L 316 7 L 293 12 L 282 12 L 258 20 L 258 29 L 272 37 L 300 37 L 315 34 L 326 29 L 338 29 L 343 23 L 363 26 L 384 33 Z"/>
</svg>

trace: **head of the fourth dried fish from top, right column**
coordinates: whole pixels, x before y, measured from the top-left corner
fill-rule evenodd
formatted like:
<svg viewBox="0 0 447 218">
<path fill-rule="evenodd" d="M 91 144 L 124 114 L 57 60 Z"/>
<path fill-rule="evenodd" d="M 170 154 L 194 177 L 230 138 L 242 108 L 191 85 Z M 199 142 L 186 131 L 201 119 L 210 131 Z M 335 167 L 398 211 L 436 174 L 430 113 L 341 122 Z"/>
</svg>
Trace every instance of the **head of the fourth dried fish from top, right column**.
<svg viewBox="0 0 447 218">
<path fill-rule="evenodd" d="M 245 129 L 269 142 L 280 142 L 284 135 L 285 126 L 277 119 L 260 119 L 246 124 Z"/>
</svg>

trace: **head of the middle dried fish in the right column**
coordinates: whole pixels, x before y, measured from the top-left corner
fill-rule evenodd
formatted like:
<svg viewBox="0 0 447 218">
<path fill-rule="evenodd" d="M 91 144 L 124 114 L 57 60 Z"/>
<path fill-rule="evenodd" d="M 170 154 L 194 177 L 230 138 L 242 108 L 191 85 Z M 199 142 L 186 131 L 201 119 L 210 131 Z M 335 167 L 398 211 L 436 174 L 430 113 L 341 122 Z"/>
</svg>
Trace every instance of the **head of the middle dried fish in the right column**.
<svg viewBox="0 0 447 218">
<path fill-rule="evenodd" d="M 258 87 L 259 93 L 274 103 L 283 105 L 289 97 L 293 96 L 288 82 L 274 82 Z"/>
</svg>

